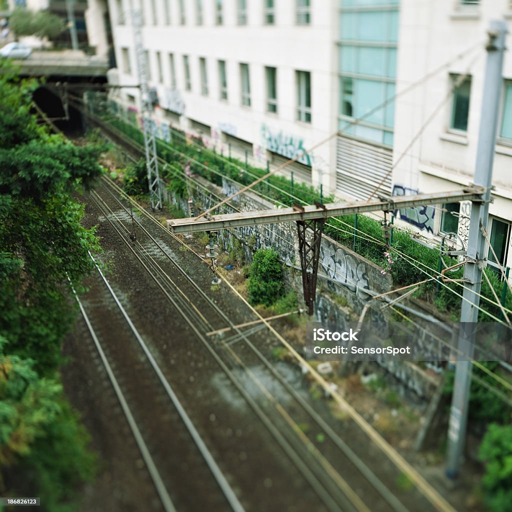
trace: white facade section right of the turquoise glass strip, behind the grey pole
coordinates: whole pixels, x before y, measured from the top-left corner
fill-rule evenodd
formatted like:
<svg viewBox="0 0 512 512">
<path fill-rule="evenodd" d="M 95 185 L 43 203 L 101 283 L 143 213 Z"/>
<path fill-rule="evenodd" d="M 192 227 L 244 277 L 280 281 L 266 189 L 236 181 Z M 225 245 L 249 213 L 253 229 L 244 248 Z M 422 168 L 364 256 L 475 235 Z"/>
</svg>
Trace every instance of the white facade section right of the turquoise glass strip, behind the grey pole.
<svg viewBox="0 0 512 512">
<path fill-rule="evenodd" d="M 397 90 L 450 63 L 396 101 L 393 159 L 394 194 L 435 193 L 471 183 L 475 172 L 483 94 L 487 30 L 492 19 L 512 19 L 508 0 L 444 2 L 402 0 Z M 508 47 L 510 38 L 508 37 Z M 461 58 L 456 58 L 463 55 Z M 489 232 L 499 262 L 512 265 L 512 54 L 505 52 L 498 143 L 493 169 L 494 202 Z M 458 84 L 454 94 L 451 90 Z M 410 150 L 408 145 L 435 112 Z M 471 203 L 400 211 L 399 217 L 439 241 L 457 232 L 466 242 Z M 457 214 L 459 216 L 457 216 Z M 487 255 L 487 254 L 486 254 Z M 494 260 L 492 253 L 488 258 Z"/>
</svg>

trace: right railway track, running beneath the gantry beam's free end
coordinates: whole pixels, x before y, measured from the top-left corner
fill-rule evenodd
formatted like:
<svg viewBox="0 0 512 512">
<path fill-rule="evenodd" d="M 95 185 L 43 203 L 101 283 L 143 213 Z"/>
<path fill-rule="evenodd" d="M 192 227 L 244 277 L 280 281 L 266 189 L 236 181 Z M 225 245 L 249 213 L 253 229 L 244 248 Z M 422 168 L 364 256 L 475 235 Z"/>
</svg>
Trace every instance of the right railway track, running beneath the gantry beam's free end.
<svg viewBox="0 0 512 512">
<path fill-rule="evenodd" d="M 104 186 L 112 187 L 106 183 Z M 102 215 L 126 245 L 134 253 L 138 252 L 137 259 L 152 276 L 167 300 L 180 311 L 184 321 L 194 325 L 197 338 L 204 349 L 223 367 L 230 381 L 244 395 L 260 420 L 266 424 L 274 439 L 297 465 L 327 509 L 404 512 L 408 510 L 408 506 L 417 509 L 418 504 L 422 503 L 422 510 L 428 510 L 429 504 L 423 503 L 422 498 L 415 493 L 414 496 L 406 496 L 404 503 L 395 496 L 390 487 L 392 488 L 396 481 L 390 480 L 387 473 L 384 482 L 369 469 L 368 464 L 356 455 L 348 443 L 314 410 L 310 402 L 297 392 L 265 357 L 256 346 L 257 343 L 261 343 L 261 339 L 253 343 L 245 333 L 237 329 L 233 329 L 236 337 L 227 340 L 212 342 L 211 338 L 205 336 L 208 331 L 232 327 L 233 323 L 203 288 L 181 268 L 171 254 L 172 251 L 169 251 L 161 240 L 157 240 L 141 220 L 132 221 L 129 210 L 116 197 L 117 192 L 115 189 L 103 188 L 103 198 L 96 195 L 93 199 L 96 207 L 101 210 Z M 130 233 L 133 231 L 131 222 L 137 224 L 135 241 L 130 239 Z M 153 247 L 158 248 L 160 256 L 170 266 L 166 267 L 162 261 L 156 260 L 150 242 Z M 258 369 L 256 373 L 253 371 L 255 368 Z M 257 393 L 253 393 L 254 396 L 244 390 L 240 382 L 240 371 L 244 372 L 258 390 Z M 266 385 L 262 382 L 262 371 L 266 373 Z M 268 386 L 268 382 L 271 382 L 271 386 Z M 266 386 L 274 388 L 274 393 L 275 388 L 279 388 L 275 393 L 278 396 L 289 395 L 286 406 L 283 406 Z M 314 428 L 310 432 L 304 432 L 303 425 L 310 423 Z M 321 442 L 318 442 L 319 439 Z"/>
</svg>

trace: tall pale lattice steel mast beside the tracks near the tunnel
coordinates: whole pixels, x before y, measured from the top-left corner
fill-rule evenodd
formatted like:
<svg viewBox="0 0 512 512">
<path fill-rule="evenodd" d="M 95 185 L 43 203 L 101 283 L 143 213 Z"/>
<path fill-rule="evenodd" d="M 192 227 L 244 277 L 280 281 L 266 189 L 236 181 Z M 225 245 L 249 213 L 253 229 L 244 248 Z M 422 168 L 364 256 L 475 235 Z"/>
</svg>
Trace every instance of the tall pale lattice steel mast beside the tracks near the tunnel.
<svg viewBox="0 0 512 512">
<path fill-rule="evenodd" d="M 150 90 L 147 85 L 147 70 L 144 58 L 144 45 L 142 41 L 142 14 L 139 9 L 132 10 L 132 25 L 135 42 L 135 55 L 137 59 L 137 72 L 139 77 L 140 99 L 142 103 L 142 129 L 144 132 L 144 146 L 146 150 L 147 182 L 150 188 L 151 207 L 162 207 L 162 194 L 160 191 L 160 177 L 158 175 L 157 142 L 150 122 L 153 104 Z"/>
</svg>

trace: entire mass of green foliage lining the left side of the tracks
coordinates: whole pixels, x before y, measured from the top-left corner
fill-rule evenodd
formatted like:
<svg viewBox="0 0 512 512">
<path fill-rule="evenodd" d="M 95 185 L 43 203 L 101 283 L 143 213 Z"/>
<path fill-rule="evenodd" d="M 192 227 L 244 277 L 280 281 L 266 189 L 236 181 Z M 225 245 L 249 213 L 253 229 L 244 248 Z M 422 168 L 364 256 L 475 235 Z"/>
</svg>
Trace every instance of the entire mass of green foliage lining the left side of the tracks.
<svg viewBox="0 0 512 512">
<path fill-rule="evenodd" d="M 80 289 L 88 250 L 99 250 L 72 195 L 101 167 L 99 148 L 38 126 L 35 87 L 0 61 L 0 496 L 40 496 L 41 510 L 64 511 L 94 466 L 58 372 L 76 311 L 68 278 Z"/>
</svg>

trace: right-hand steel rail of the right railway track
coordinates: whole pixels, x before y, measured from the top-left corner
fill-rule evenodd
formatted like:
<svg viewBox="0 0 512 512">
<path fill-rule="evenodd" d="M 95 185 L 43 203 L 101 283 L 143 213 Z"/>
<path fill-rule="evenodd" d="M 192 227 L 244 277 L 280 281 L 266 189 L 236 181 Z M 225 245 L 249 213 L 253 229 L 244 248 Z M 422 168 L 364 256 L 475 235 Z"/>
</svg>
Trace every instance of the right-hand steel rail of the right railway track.
<svg viewBox="0 0 512 512">
<path fill-rule="evenodd" d="M 108 181 L 107 181 L 108 182 Z M 114 196 L 114 194 L 105 187 L 105 190 L 116 200 L 116 202 L 123 208 L 125 211 L 127 209 L 122 204 L 122 202 Z M 314 409 L 309 405 L 309 403 L 298 394 L 290 384 L 284 379 L 278 371 L 272 366 L 272 364 L 268 361 L 268 359 L 250 342 L 247 338 L 247 333 L 244 333 L 240 330 L 239 327 L 235 326 L 227 315 L 211 300 L 211 298 L 206 295 L 203 289 L 197 285 L 197 283 L 190 278 L 188 274 L 186 274 L 181 266 L 175 261 L 175 259 L 170 256 L 167 251 L 161 246 L 161 244 L 147 231 L 147 229 L 142 226 L 139 220 L 136 220 L 138 226 L 143 230 L 148 238 L 150 238 L 157 247 L 161 250 L 161 252 L 165 255 L 165 257 L 175 265 L 178 271 L 180 271 L 185 278 L 189 281 L 189 283 L 194 286 L 196 291 L 202 296 L 202 298 L 208 303 L 208 305 L 217 312 L 219 316 L 229 325 L 229 329 L 232 329 L 234 332 L 237 332 L 237 336 L 240 339 L 243 339 L 249 349 L 259 358 L 259 360 L 264 364 L 264 366 L 271 372 L 271 374 L 281 383 L 281 385 L 287 390 L 288 393 L 300 404 L 300 406 L 306 411 L 306 413 L 315 421 L 318 426 L 326 433 L 326 435 L 333 441 L 338 449 L 342 451 L 342 453 L 349 459 L 349 461 L 359 470 L 359 472 L 364 476 L 371 485 L 377 490 L 377 492 L 382 496 L 382 498 L 393 508 L 393 510 L 397 512 L 407 512 L 407 508 L 397 499 L 397 497 L 391 493 L 391 491 L 386 487 L 385 484 L 370 470 L 370 468 L 350 449 L 350 447 L 345 443 L 331 428 L 331 426 L 318 414 Z M 228 329 L 226 328 L 226 329 Z M 239 364 L 241 361 L 238 361 Z"/>
</svg>

